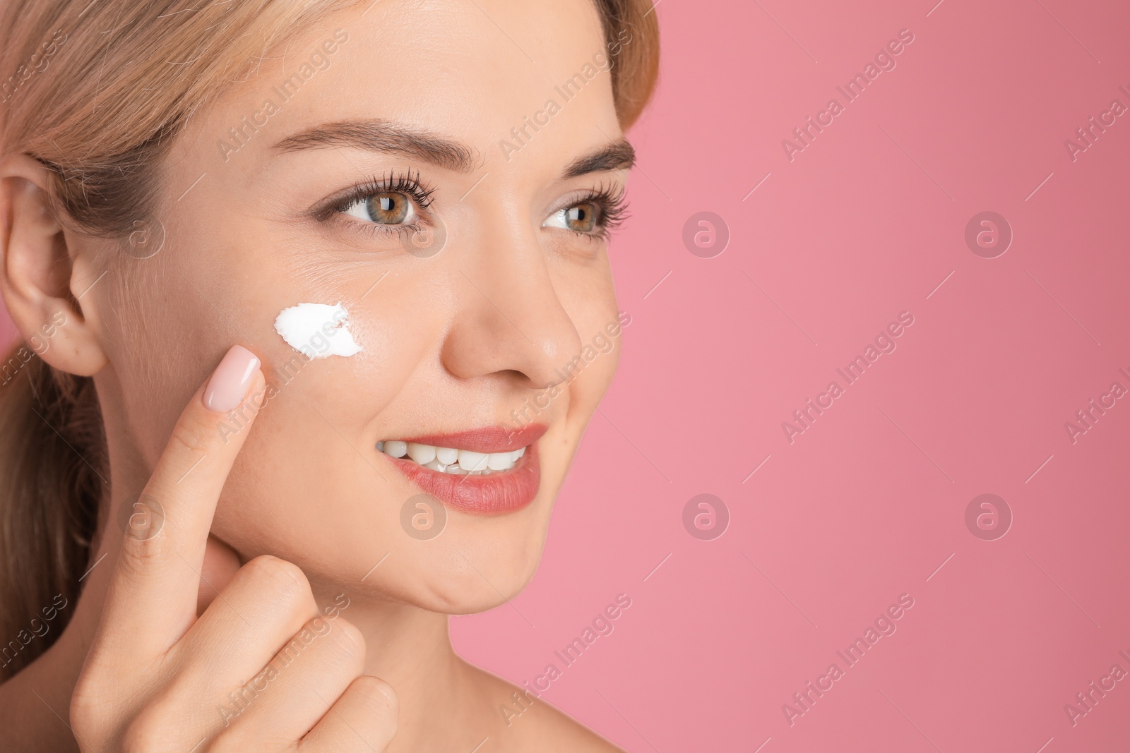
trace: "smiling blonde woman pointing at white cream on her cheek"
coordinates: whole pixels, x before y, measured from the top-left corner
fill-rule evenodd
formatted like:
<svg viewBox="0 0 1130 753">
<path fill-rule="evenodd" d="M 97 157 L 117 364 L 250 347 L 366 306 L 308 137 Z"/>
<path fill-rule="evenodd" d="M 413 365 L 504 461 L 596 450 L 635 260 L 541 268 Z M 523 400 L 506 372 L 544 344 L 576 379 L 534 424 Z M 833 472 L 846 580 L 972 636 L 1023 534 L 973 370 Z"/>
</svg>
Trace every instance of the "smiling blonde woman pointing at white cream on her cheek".
<svg viewBox="0 0 1130 753">
<path fill-rule="evenodd" d="M 0 747 L 616 750 L 447 615 L 616 367 L 650 5 L 2 14 Z"/>
</svg>

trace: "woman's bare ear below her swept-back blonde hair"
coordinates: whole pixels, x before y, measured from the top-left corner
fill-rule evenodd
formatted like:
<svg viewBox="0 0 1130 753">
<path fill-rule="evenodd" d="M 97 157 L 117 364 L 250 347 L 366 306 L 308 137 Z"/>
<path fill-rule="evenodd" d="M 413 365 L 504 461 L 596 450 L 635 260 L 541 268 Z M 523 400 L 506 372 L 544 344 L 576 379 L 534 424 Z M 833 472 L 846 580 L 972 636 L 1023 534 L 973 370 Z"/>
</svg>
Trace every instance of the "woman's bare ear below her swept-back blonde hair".
<svg viewBox="0 0 1130 753">
<path fill-rule="evenodd" d="M 50 169 L 27 155 L 0 159 L 0 295 L 24 341 L 56 369 L 92 376 L 106 353 L 82 306 L 101 272 L 93 253 L 68 247 L 51 211 Z M 75 238 L 77 242 L 77 238 Z"/>
</svg>

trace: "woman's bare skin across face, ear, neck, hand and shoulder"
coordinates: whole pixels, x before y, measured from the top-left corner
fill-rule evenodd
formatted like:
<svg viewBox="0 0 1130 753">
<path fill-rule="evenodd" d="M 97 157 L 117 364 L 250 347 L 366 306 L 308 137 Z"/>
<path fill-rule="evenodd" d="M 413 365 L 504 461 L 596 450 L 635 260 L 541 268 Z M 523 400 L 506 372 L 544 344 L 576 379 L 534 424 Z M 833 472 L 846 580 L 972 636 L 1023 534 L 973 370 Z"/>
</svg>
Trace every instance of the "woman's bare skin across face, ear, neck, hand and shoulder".
<svg viewBox="0 0 1130 753">
<path fill-rule="evenodd" d="M 548 427 L 541 483 L 524 509 L 449 510 L 441 536 L 412 539 L 400 510 L 419 489 L 374 447 L 513 423 L 512 411 L 560 383 L 558 369 L 617 321 L 606 240 L 547 224 L 588 191 L 627 180 L 627 164 L 563 177 L 623 138 L 608 72 L 508 159 L 498 146 L 548 98 L 562 102 L 555 84 L 605 52 L 599 17 L 588 0 L 363 10 L 304 34 L 176 137 L 162 166 L 164 244 L 150 259 L 52 217 L 50 176 L 35 160 L 0 161 L 0 288 L 25 338 L 66 316 L 42 357 L 94 376 L 114 490 L 92 564 L 107 557 L 85 578 L 71 622 L 0 686 L 5 748 L 79 750 L 75 727 L 89 738 L 84 750 L 189 750 L 201 735 L 186 719 L 199 712 L 214 736 L 198 750 L 228 750 L 231 739 L 215 737 L 217 704 L 344 597 L 332 640 L 314 643 L 318 660 L 241 715 L 244 743 L 305 715 L 302 733 L 270 748 L 297 750 L 324 715 L 321 737 L 302 750 L 470 751 L 484 737 L 484 752 L 618 750 L 544 700 L 507 725 L 499 706 L 513 706 L 515 686 L 454 654 L 446 616 L 503 604 L 532 578 L 618 339 L 537 417 Z M 334 29 L 348 41 L 329 68 L 225 155 L 218 140 L 264 98 L 278 103 L 272 87 Z M 374 117 L 464 145 L 470 169 L 354 146 L 276 146 Z M 311 217 L 358 181 L 409 170 L 434 189 L 421 214 L 446 230 L 434 256 L 406 253 L 368 220 Z M 302 301 L 344 301 L 364 350 L 304 362 L 284 380 L 277 369 L 296 353 L 273 321 Z M 224 432 L 229 418 L 203 409 L 200 395 L 233 344 L 260 358 L 264 382 L 252 387 L 242 428 Z M 147 541 L 105 523 L 142 491 L 165 514 Z M 341 713 L 327 713 L 330 703 Z M 355 747 L 359 736 L 367 739 Z"/>
</svg>

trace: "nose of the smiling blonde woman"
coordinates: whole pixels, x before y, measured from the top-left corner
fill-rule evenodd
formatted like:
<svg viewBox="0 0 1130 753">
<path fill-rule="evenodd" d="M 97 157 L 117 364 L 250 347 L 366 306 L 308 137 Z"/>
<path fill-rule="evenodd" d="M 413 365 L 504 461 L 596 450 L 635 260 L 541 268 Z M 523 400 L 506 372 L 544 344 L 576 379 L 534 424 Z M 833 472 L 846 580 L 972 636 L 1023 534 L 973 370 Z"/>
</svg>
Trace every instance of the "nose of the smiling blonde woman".
<svg viewBox="0 0 1130 753">
<path fill-rule="evenodd" d="M 475 378 L 503 371 L 531 388 L 567 378 L 581 336 L 554 286 L 537 229 L 507 218 L 478 228 L 458 254 L 458 310 L 443 347 L 445 368 Z"/>
</svg>

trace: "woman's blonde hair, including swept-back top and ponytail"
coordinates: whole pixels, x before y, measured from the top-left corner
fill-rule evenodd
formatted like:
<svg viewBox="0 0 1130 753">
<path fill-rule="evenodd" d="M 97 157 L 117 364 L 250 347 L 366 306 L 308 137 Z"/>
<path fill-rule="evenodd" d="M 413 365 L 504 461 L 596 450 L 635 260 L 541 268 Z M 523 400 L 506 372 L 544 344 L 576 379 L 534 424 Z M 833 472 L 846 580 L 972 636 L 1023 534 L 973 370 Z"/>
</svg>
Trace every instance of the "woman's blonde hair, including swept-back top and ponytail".
<svg viewBox="0 0 1130 753">
<path fill-rule="evenodd" d="M 651 0 L 594 2 L 616 53 L 612 94 L 627 129 L 655 86 L 655 14 Z M 49 201 L 60 221 L 124 238 L 151 218 L 162 158 L 193 113 L 269 51 L 357 3 L 199 5 L 0 0 L 0 154 L 27 154 L 52 170 Z M 78 597 L 108 475 L 93 379 L 17 343 L 0 364 L 0 682 L 69 620 L 73 610 L 61 607 L 50 630 L 36 628 L 55 618 L 60 598 Z"/>
</svg>

